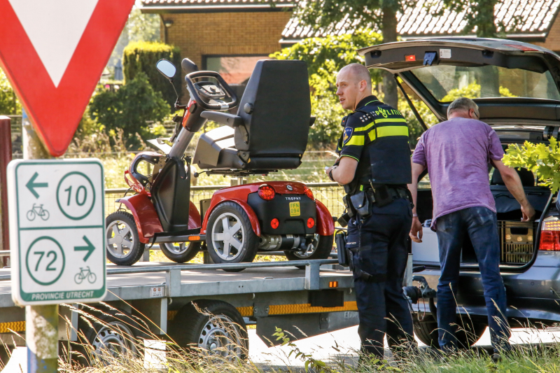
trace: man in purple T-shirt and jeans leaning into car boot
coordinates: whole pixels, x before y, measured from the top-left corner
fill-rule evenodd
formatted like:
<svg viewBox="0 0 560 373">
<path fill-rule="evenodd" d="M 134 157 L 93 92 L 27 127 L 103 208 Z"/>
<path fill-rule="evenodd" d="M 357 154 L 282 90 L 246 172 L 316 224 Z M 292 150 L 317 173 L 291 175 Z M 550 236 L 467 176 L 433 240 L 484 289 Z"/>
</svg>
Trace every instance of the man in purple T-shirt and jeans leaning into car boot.
<svg viewBox="0 0 560 373">
<path fill-rule="evenodd" d="M 447 108 L 448 120 L 424 132 L 412 156 L 414 205 L 418 178 L 428 168 L 433 197 L 432 229 L 437 233 L 441 276 L 437 285 L 437 327 L 443 350 L 456 349 L 456 292 L 463 237 L 468 234 L 479 263 L 484 300 L 488 310 L 491 342 L 496 352 L 509 350 L 510 329 L 505 318 L 506 300 L 500 276 L 500 242 L 496 204 L 489 187 L 492 164 L 507 189 L 521 204 L 523 221 L 535 210 L 527 201 L 517 171 L 501 161 L 504 153 L 496 132 L 479 120 L 475 101 L 461 97 Z M 413 211 L 410 237 L 421 242 L 422 225 Z"/>
</svg>

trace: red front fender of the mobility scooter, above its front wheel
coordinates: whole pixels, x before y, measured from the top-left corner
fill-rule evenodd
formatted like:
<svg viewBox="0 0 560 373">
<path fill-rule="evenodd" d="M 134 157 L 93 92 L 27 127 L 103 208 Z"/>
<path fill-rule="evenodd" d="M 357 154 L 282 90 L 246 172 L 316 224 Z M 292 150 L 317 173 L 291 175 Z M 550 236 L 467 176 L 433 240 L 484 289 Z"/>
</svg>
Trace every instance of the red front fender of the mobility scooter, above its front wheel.
<svg viewBox="0 0 560 373">
<path fill-rule="evenodd" d="M 136 223 L 138 237 L 142 244 L 148 244 L 154 234 L 163 232 L 158 213 L 155 212 L 150 197 L 146 193 L 120 198 L 116 202 L 124 204 L 134 216 L 134 223 Z M 200 215 L 198 220 L 200 221 Z"/>
</svg>

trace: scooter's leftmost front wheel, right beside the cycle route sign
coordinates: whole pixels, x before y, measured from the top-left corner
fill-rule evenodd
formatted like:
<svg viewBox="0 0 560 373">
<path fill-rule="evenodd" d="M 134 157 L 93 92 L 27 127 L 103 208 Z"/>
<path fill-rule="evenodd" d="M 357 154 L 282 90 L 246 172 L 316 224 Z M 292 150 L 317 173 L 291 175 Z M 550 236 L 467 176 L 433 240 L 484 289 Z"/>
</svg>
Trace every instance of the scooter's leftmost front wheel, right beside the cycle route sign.
<svg viewBox="0 0 560 373">
<path fill-rule="evenodd" d="M 116 265 L 133 265 L 144 253 L 132 214 L 116 211 L 105 220 L 107 259 Z"/>
</svg>

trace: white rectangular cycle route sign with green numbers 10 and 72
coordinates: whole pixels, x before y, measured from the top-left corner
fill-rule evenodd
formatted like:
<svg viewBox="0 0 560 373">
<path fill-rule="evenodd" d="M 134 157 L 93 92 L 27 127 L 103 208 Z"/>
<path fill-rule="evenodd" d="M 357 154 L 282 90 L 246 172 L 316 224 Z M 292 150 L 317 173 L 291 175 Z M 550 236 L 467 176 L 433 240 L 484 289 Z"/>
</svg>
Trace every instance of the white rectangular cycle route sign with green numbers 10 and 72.
<svg viewBox="0 0 560 373">
<path fill-rule="evenodd" d="M 13 301 L 103 300 L 103 164 L 97 159 L 13 160 L 7 179 Z"/>
</svg>

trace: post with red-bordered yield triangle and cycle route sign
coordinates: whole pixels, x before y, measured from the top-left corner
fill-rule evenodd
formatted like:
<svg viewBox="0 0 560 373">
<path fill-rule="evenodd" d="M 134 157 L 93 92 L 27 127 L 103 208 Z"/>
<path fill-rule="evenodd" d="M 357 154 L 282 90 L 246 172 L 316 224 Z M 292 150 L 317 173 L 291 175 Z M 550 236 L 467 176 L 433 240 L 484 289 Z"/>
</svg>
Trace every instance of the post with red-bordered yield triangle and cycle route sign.
<svg viewBox="0 0 560 373">
<path fill-rule="evenodd" d="M 29 115 L 27 159 L 66 152 L 133 5 L 0 0 L 0 67 Z M 58 304 L 105 294 L 103 167 L 15 162 L 8 174 L 12 296 L 27 305 L 28 372 L 55 373 Z"/>
</svg>

